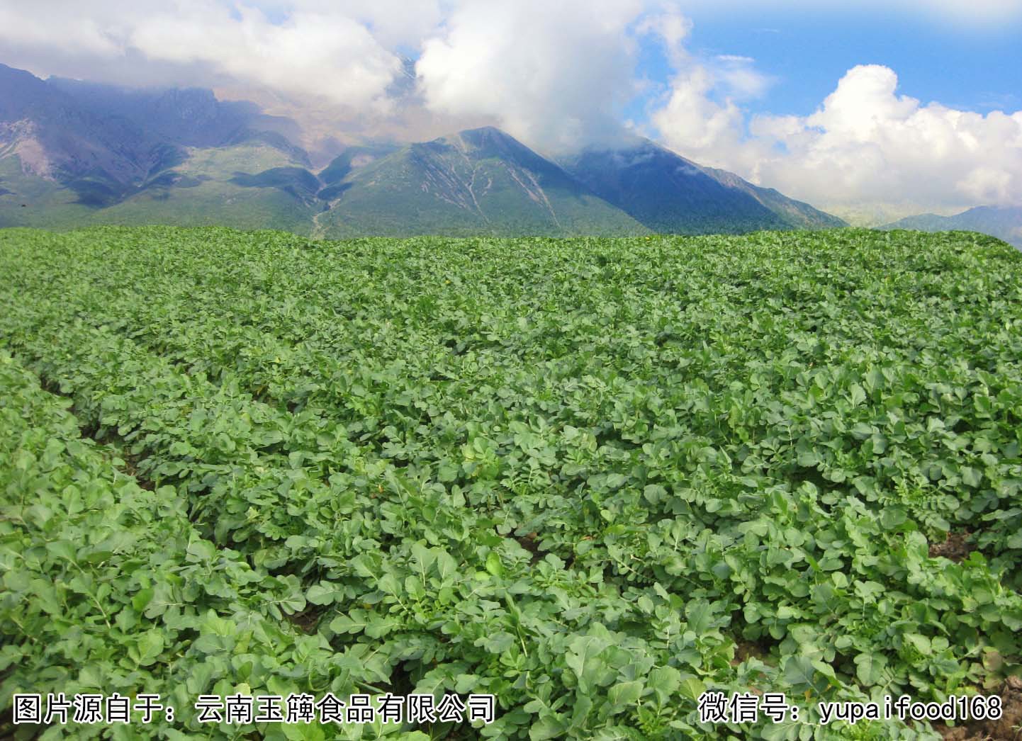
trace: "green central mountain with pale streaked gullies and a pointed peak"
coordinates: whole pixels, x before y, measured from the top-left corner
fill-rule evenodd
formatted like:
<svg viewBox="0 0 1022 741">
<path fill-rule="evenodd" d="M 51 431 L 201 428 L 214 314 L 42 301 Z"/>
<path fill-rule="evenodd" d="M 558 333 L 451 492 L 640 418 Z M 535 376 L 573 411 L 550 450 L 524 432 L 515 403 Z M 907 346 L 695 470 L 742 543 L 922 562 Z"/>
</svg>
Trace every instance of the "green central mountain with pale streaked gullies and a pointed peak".
<svg viewBox="0 0 1022 741">
<path fill-rule="evenodd" d="M 494 129 L 412 144 L 353 171 L 326 236 L 642 234 L 561 168 Z"/>
</svg>

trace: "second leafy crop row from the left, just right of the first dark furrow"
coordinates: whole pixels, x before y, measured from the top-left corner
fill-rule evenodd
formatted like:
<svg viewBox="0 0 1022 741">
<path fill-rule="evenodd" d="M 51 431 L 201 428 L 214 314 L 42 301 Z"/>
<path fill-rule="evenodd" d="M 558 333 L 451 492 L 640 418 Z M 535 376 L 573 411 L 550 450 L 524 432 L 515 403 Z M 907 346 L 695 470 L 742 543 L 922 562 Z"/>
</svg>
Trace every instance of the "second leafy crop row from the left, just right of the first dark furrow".
<svg viewBox="0 0 1022 741">
<path fill-rule="evenodd" d="M 50 302 L 40 296 L 31 305 L 12 304 L 4 320 L 7 340 L 44 378 L 59 379 L 84 425 L 115 427 L 140 472 L 181 479 L 179 491 L 193 514 L 205 514 L 203 503 L 214 503 L 218 542 L 233 540 L 261 567 L 300 564 L 308 591 L 281 607 L 299 610 L 306 599 L 333 606 L 336 616 L 321 619 L 318 634 L 358 657 L 358 664 L 307 660 L 292 671 L 310 673 L 335 690 L 353 680 L 393 687 L 404 675 L 419 691 L 490 691 L 513 710 L 489 727 L 490 734 L 511 735 L 521 726 L 553 733 L 569 725 L 554 712 L 565 702 L 562 683 L 571 687 L 577 678 L 555 680 L 544 669 L 552 656 L 588 654 L 599 638 L 599 660 L 587 670 L 597 671 L 601 685 L 626 685 L 629 697 L 647 694 L 649 723 L 660 722 L 661 712 L 669 713 L 662 723 L 672 720 L 677 709 L 667 698 L 685 679 L 697 683 L 686 685 L 693 699 L 694 675 L 666 665 L 655 670 L 645 642 L 602 624 L 628 609 L 612 586 L 590 584 L 587 574 L 557 559 L 533 565 L 530 553 L 493 532 L 493 522 L 452 509 L 443 487 L 409 482 L 385 463 L 358 470 L 346 441 L 338 444 L 329 430 L 301 424 L 300 416 L 244 399 L 230 379 L 215 385 L 188 376 L 108 329 L 76 319 L 82 306 L 72 298 L 65 292 Z M 277 435 L 285 431 L 281 441 Z M 268 436 L 287 452 L 253 448 Z M 338 460 L 361 475 L 327 470 Z M 232 528 L 234 512 L 250 522 Z M 363 537 L 366 530 L 376 540 Z M 436 542 L 456 548 L 460 558 Z M 365 640 L 346 641 L 345 634 Z M 701 640 L 703 651 L 724 658 L 703 667 L 702 652 L 690 650 L 688 663 L 703 673 L 715 663 L 730 674 L 733 642 L 719 634 Z M 252 691 L 272 689 L 246 684 Z M 585 689 L 587 695 L 593 690 Z M 522 711 L 522 697 L 536 705 L 531 713 Z M 625 709 L 636 711 L 621 700 L 604 700 L 571 723 L 585 735 L 582 729 Z"/>
</svg>

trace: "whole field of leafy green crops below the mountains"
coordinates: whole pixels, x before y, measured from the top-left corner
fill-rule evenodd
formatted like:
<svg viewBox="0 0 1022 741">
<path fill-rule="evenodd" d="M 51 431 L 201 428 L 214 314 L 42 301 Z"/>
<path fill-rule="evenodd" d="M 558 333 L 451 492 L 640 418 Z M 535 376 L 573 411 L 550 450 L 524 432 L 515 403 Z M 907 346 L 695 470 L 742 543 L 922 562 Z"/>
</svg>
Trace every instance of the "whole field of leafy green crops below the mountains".
<svg viewBox="0 0 1022 741">
<path fill-rule="evenodd" d="M 0 230 L 0 736 L 1014 738 L 1020 451 L 977 234 Z M 495 712 L 194 707 L 328 693 Z M 1003 714 L 821 722 L 901 695 Z"/>
</svg>

